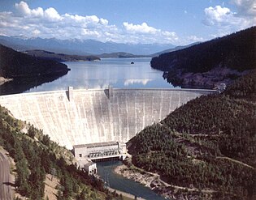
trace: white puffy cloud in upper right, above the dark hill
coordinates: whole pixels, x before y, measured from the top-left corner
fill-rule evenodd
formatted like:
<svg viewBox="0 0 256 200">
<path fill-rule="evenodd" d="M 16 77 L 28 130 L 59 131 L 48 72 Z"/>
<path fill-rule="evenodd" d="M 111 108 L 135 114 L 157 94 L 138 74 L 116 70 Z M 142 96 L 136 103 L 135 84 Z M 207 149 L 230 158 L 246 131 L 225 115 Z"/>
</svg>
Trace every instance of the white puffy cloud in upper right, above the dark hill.
<svg viewBox="0 0 256 200">
<path fill-rule="evenodd" d="M 207 7 L 203 23 L 219 28 L 219 35 L 225 35 L 256 25 L 256 3 L 254 0 L 232 0 L 237 11 L 228 7 Z"/>
</svg>

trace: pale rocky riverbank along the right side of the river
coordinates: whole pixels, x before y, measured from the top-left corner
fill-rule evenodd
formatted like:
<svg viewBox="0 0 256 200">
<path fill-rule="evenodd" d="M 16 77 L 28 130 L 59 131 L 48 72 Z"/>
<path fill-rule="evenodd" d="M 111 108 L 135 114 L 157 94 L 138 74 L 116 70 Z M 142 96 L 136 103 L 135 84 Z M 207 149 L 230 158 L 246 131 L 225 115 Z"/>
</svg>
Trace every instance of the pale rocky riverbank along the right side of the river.
<svg viewBox="0 0 256 200">
<path fill-rule="evenodd" d="M 127 160 L 125 164 L 119 165 L 114 169 L 116 174 L 119 174 L 125 178 L 131 179 L 145 185 L 152 189 L 155 193 L 162 195 L 167 199 L 211 199 L 212 190 L 186 188 L 177 185 L 170 185 L 167 182 L 161 180 L 160 175 L 152 172 L 146 172 L 141 168 L 135 167 L 131 164 L 131 160 Z"/>
</svg>

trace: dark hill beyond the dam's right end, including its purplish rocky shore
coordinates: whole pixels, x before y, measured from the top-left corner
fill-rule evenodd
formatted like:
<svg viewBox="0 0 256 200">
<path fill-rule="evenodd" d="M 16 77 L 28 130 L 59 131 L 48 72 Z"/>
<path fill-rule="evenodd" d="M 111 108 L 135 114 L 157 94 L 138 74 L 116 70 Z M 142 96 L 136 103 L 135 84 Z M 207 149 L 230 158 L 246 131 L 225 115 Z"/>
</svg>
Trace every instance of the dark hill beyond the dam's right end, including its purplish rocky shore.
<svg viewBox="0 0 256 200">
<path fill-rule="evenodd" d="M 256 27 L 163 53 L 150 64 L 166 71 L 164 78 L 174 85 L 231 83 L 242 71 L 256 67 Z"/>
</svg>

